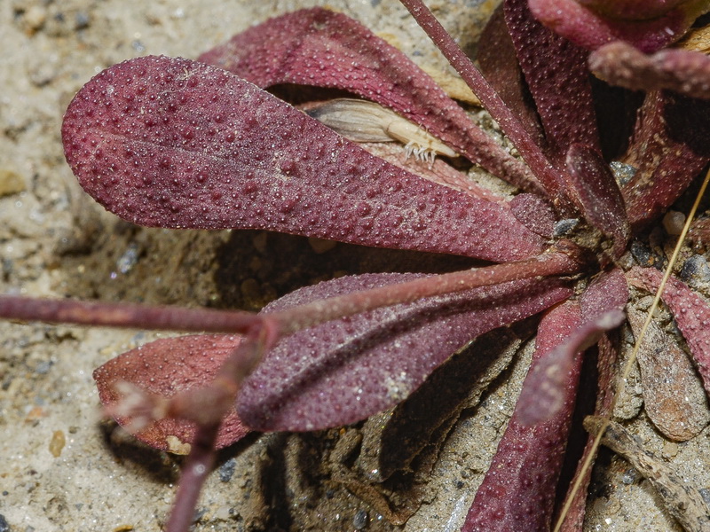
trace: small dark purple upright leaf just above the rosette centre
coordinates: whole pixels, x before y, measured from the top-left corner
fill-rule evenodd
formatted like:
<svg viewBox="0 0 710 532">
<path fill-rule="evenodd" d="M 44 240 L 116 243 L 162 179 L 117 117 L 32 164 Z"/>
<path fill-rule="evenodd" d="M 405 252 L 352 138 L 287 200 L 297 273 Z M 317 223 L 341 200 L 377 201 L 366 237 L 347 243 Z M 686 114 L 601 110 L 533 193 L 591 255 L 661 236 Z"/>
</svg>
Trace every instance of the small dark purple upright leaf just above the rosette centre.
<svg viewBox="0 0 710 532">
<path fill-rule="evenodd" d="M 596 149 L 580 144 L 570 146 L 566 162 L 585 219 L 613 240 L 612 256 L 618 259 L 626 251 L 631 228 L 609 165 Z"/>
</svg>

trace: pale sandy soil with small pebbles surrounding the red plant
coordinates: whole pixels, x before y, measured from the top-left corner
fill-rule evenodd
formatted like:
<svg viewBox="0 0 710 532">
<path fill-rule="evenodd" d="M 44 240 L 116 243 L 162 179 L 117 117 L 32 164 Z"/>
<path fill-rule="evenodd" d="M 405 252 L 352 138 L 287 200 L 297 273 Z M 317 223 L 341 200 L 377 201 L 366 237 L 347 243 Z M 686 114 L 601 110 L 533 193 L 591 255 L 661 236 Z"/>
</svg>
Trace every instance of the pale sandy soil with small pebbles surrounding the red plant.
<svg viewBox="0 0 710 532">
<path fill-rule="evenodd" d="M 307 239 L 262 231 L 145 230 L 94 205 L 75 184 L 59 137 L 68 101 L 93 74 L 144 54 L 195 57 L 252 23 L 325 3 L 199 4 L 0 2 L 0 291 L 257 309 L 296 286 L 343 272 L 433 271 L 464 263 L 356 246 L 324 251 Z M 430 4 L 467 47 L 490 8 L 485 2 L 472 10 L 479 3 L 471 0 Z M 388 35 L 420 63 L 446 68 L 392 0 L 327 5 Z M 288 270 L 278 263 L 286 254 L 294 265 Z M 161 529 L 179 459 L 147 450 L 101 422 L 91 379 L 91 371 L 111 356 L 156 336 L 0 323 L 0 531 Z M 406 530 L 461 526 L 528 359 L 521 350 L 483 403 L 464 412 L 430 475 L 419 475 L 409 485 L 412 493 L 390 497 L 391 505 L 423 503 Z M 696 488 L 710 489 L 707 429 L 675 444 L 659 436 L 643 412 L 629 411 L 627 424 L 647 450 Z M 363 500 L 345 489 L 343 478 L 352 478 L 343 452 L 348 434 L 253 435 L 225 450 L 201 498 L 195 529 L 399 529 L 383 517 L 381 497 Z M 349 485 L 361 495 L 367 491 Z M 646 481 L 623 460 L 605 455 L 586 528 L 677 529 L 660 508 Z"/>
</svg>

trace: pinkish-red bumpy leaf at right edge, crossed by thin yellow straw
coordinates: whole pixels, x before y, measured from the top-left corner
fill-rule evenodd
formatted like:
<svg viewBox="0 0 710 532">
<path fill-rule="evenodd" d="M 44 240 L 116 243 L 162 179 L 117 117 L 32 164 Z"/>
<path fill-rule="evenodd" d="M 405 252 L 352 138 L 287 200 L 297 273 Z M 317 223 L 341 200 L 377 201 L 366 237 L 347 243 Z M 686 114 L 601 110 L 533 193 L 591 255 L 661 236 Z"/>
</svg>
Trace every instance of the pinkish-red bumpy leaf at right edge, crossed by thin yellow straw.
<svg viewBox="0 0 710 532">
<path fill-rule="evenodd" d="M 649 292 L 656 292 L 663 274 L 655 268 L 633 268 L 627 273 L 627 278 Z M 707 328 L 710 324 L 710 306 L 698 293 L 673 277 L 668 278 L 661 298 L 673 313 L 675 323 L 698 366 L 706 392 L 710 395 L 710 339 Z"/>
</svg>

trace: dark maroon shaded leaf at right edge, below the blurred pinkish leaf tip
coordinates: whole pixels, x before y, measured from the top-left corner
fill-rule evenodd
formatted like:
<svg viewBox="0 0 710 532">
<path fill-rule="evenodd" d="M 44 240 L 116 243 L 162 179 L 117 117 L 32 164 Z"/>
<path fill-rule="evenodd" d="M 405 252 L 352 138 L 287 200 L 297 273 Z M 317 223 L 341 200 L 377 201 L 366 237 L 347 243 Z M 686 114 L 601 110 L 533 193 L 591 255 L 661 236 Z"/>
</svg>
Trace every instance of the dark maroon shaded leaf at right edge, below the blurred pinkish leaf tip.
<svg viewBox="0 0 710 532">
<path fill-rule="evenodd" d="M 710 101 L 650 92 L 621 160 L 636 169 L 621 192 L 638 230 L 670 207 L 710 160 Z"/>
</svg>

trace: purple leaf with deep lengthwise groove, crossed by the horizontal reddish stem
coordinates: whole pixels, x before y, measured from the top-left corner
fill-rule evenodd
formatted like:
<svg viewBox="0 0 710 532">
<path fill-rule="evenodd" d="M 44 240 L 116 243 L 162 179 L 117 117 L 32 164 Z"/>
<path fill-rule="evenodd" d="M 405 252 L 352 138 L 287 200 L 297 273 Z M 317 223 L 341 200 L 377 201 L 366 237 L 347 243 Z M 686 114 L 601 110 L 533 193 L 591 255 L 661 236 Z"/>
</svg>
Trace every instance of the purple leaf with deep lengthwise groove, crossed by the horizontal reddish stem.
<svg viewBox="0 0 710 532">
<path fill-rule="evenodd" d="M 421 277 L 370 274 L 302 288 L 266 311 Z M 240 416 L 260 430 L 315 430 L 401 402 L 477 335 L 570 295 L 558 279 L 513 281 L 359 314 L 280 341 L 244 383 Z"/>
</svg>

